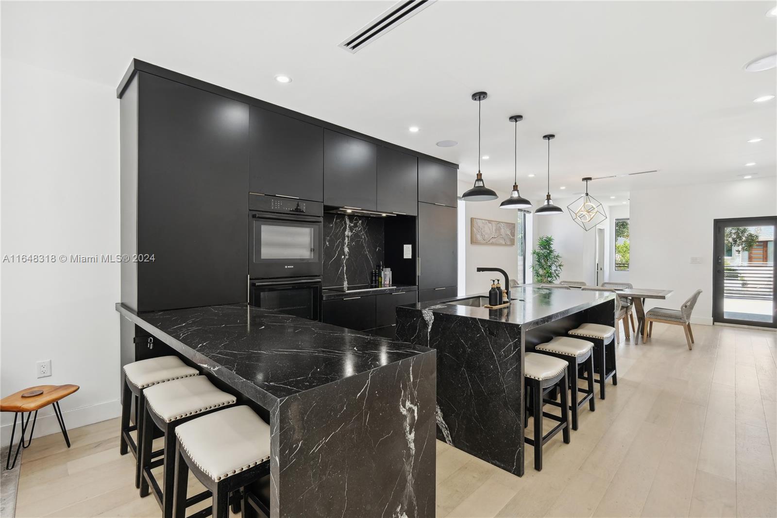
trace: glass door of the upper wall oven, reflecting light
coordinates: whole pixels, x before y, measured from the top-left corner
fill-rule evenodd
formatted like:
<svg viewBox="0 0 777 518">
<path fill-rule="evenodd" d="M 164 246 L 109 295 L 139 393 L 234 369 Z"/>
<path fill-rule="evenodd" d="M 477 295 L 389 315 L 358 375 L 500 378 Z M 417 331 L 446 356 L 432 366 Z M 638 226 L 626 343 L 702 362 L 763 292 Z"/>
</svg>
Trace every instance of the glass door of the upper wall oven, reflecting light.
<svg viewBox="0 0 777 518">
<path fill-rule="evenodd" d="M 253 217 L 251 277 L 321 275 L 322 223 Z"/>
</svg>

